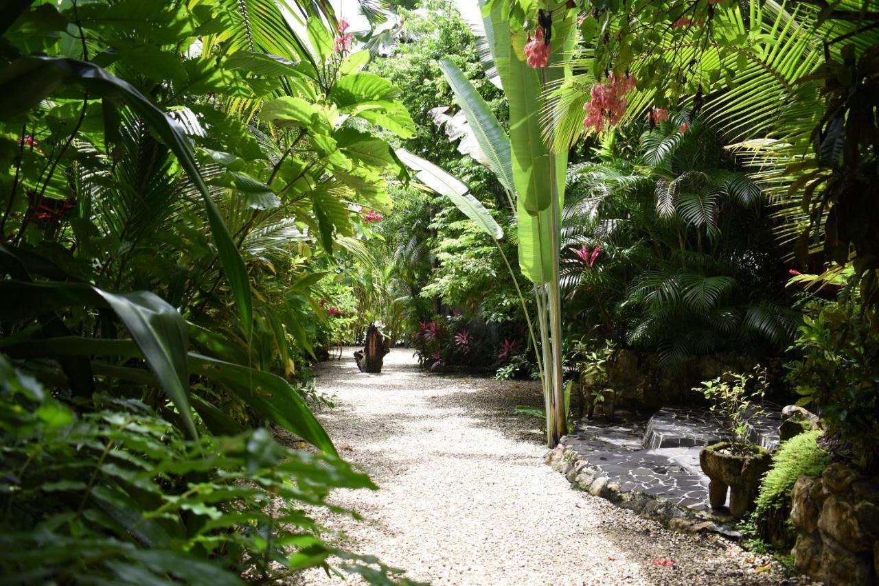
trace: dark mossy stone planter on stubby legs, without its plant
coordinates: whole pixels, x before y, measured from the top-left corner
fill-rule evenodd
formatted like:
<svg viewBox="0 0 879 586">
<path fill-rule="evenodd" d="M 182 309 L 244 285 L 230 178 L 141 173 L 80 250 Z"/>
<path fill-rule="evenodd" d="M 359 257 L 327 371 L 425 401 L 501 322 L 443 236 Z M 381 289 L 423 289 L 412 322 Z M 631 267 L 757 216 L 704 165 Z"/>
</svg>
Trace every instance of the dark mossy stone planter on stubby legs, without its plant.
<svg viewBox="0 0 879 586">
<path fill-rule="evenodd" d="M 757 498 L 760 479 L 772 464 L 772 456 L 759 445 L 749 445 L 742 455 L 731 453 L 730 447 L 730 442 L 708 445 L 699 452 L 699 463 L 710 480 L 708 501 L 711 508 L 723 507 L 729 488 L 730 515 L 741 519 Z"/>
</svg>

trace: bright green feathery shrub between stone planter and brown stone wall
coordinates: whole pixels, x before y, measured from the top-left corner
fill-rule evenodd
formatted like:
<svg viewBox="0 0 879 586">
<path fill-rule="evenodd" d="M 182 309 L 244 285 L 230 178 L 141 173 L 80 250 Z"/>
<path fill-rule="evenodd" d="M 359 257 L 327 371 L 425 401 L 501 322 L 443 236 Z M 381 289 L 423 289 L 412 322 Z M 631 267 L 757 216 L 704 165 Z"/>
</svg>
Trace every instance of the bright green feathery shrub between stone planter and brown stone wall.
<svg viewBox="0 0 879 586">
<path fill-rule="evenodd" d="M 773 546 L 790 546 L 795 538 L 790 517 L 790 494 L 803 474 L 821 474 L 830 457 L 817 445 L 821 430 L 806 431 L 781 444 L 772 467 L 760 484 L 757 506 L 750 519 L 752 534 Z"/>
</svg>

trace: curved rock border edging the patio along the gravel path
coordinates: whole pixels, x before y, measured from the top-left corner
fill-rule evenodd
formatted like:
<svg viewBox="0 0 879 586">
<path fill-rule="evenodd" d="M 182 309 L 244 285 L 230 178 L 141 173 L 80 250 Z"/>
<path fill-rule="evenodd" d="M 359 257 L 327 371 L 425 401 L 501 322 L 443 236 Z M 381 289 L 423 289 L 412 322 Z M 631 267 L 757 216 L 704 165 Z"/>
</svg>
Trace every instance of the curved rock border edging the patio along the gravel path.
<svg viewBox="0 0 879 586">
<path fill-rule="evenodd" d="M 710 532 L 727 539 L 740 539 L 742 534 L 727 524 L 731 517 L 718 517 L 708 512 L 694 510 L 661 497 L 639 490 L 622 491 L 616 482 L 610 482 L 600 470 L 580 459 L 574 448 L 559 444 L 547 452 L 544 463 L 561 472 L 570 488 L 583 490 L 592 496 L 600 496 L 621 509 L 633 511 L 639 517 L 652 519 L 672 531 L 686 533 Z"/>
</svg>

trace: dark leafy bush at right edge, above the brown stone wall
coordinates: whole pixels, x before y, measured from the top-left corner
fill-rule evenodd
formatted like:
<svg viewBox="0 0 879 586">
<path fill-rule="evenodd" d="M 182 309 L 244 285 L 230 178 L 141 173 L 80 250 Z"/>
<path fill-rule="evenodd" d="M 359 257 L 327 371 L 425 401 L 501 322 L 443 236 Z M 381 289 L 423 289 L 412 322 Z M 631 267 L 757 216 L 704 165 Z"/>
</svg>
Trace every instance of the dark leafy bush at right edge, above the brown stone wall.
<svg viewBox="0 0 879 586">
<path fill-rule="evenodd" d="M 812 298 L 788 362 L 788 382 L 798 405 L 817 409 L 827 435 L 862 468 L 875 467 L 879 442 L 879 321 L 861 306 L 860 293 L 844 288 L 839 299 Z"/>
</svg>

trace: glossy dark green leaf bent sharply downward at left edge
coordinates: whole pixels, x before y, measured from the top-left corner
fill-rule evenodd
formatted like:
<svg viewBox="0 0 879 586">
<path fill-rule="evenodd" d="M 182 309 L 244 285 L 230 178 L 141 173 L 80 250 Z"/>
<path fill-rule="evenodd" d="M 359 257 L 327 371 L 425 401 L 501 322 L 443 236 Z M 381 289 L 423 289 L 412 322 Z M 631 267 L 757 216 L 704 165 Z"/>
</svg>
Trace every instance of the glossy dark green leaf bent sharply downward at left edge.
<svg viewBox="0 0 879 586">
<path fill-rule="evenodd" d="M 154 293 L 110 293 L 84 283 L 0 281 L 0 316 L 40 315 L 61 307 L 110 307 L 125 324 L 156 380 L 177 406 L 186 430 L 196 437 L 189 410 L 186 322 L 177 309 Z M 62 352 L 67 353 L 67 352 Z"/>
</svg>

